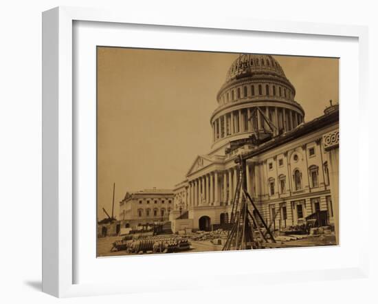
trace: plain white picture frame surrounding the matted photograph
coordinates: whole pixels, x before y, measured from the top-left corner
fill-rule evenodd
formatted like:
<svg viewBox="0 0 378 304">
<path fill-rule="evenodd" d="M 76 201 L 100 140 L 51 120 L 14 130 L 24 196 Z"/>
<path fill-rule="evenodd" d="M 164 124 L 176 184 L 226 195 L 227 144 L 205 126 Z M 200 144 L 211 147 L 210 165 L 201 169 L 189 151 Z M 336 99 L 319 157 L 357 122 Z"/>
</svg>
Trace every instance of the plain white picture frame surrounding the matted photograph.
<svg viewBox="0 0 378 304">
<path fill-rule="evenodd" d="M 331 25 L 319 23 L 295 23 L 286 21 L 259 21 L 255 19 L 238 19 L 235 17 L 216 17 L 203 19 L 188 16 L 145 16 L 135 12 L 115 12 L 92 10 L 87 8 L 54 8 L 43 12 L 43 292 L 58 297 L 85 296 L 96 294 L 122 294 L 144 292 L 144 287 L 135 283 L 127 285 L 120 281 L 105 283 L 74 283 L 76 265 L 76 239 L 74 225 L 76 213 L 74 207 L 74 166 L 76 159 L 76 135 L 74 129 L 73 82 L 74 54 L 73 23 L 106 22 L 111 24 L 164 25 L 170 27 L 187 27 L 214 30 L 254 31 L 260 33 L 274 32 L 277 34 L 322 35 L 332 39 L 333 36 L 353 37 L 358 39 L 359 75 L 358 75 L 358 106 L 367 107 L 367 71 L 368 71 L 368 30 L 356 25 Z M 342 112 L 341 112 L 342 113 Z M 361 114 L 362 115 L 362 114 Z M 362 158 L 363 151 L 368 150 L 367 134 L 357 129 L 359 136 L 358 180 L 367 170 L 367 160 Z M 356 210 L 368 209 L 367 184 L 359 182 L 358 204 Z M 94 208 L 94 207 L 93 207 Z M 235 273 L 232 283 L 225 282 L 224 276 L 214 274 L 214 282 L 208 287 L 228 285 L 254 285 L 257 283 L 279 283 L 286 281 L 320 281 L 324 276 L 328 279 L 366 278 L 368 276 L 368 221 L 359 222 L 359 243 L 362 249 L 358 261 L 353 261 L 345 268 L 324 269 L 317 271 L 293 271 L 285 273 L 266 272 L 259 276 L 247 273 Z M 218 253 L 219 254 L 219 253 Z M 227 253 L 228 254 L 228 253 Z M 247 259 L 243 252 L 240 259 Z M 197 254 L 197 260 L 199 255 Z M 156 259 L 155 257 L 148 257 Z M 169 258 L 169 257 L 168 257 Z M 115 260 L 115 259 L 114 259 Z M 113 263 L 120 263 L 113 261 Z M 190 259 L 189 259 L 190 261 Z M 190 263 L 190 262 L 189 262 Z M 203 287 L 201 283 L 185 279 L 169 279 L 165 275 L 168 287 L 151 285 L 149 290 L 179 290 Z M 164 281 L 164 280 L 162 280 Z M 155 289 L 154 289 L 155 287 Z"/>
</svg>

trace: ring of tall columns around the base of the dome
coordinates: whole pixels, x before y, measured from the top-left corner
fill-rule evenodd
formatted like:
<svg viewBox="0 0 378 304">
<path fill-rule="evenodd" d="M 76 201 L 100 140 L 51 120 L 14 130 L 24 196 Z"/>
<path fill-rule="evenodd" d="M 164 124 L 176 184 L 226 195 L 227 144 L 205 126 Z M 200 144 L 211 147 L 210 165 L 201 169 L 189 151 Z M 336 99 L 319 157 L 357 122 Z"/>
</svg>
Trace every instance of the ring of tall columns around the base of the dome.
<svg viewBox="0 0 378 304">
<path fill-rule="evenodd" d="M 264 128 L 269 129 L 260 111 L 257 112 L 255 119 L 250 119 L 253 109 L 253 107 L 238 109 L 214 120 L 214 122 L 212 122 L 213 141 L 215 142 L 216 140 L 225 138 L 227 135 L 252 132 L 253 127 L 259 130 Z M 265 116 L 277 127 L 277 132 L 278 129 L 290 131 L 303 121 L 300 113 L 291 109 L 278 107 L 260 107 L 260 109 L 263 110 Z M 278 111 L 278 109 L 281 109 L 281 111 Z"/>
</svg>

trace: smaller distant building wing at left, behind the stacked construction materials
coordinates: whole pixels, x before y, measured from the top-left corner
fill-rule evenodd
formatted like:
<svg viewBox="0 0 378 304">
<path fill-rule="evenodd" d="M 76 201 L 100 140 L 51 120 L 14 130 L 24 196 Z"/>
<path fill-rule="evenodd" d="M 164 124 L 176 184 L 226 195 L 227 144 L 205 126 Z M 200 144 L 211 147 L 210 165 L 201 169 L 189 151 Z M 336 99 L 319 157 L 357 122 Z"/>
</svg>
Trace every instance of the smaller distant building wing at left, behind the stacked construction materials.
<svg viewBox="0 0 378 304">
<path fill-rule="evenodd" d="M 173 191 L 146 189 L 128 192 L 120 202 L 119 220 L 123 227 L 168 221 L 173 210 Z"/>
</svg>

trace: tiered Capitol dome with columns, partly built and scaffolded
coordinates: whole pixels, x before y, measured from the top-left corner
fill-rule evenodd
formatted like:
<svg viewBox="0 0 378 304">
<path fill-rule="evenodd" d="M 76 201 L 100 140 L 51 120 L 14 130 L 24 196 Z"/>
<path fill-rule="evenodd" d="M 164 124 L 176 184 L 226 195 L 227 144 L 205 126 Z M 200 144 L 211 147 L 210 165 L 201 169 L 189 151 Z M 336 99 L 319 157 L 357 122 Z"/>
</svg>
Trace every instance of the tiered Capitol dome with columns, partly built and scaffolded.
<svg viewBox="0 0 378 304">
<path fill-rule="evenodd" d="M 296 89 L 271 55 L 241 54 L 228 69 L 212 113 L 213 149 L 269 129 L 263 116 L 276 126 L 274 135 L 296 128 L 304 110 L 294 100 Z M 254 109 L 260 111 L 254 111 Z M 253 116 L 253 117 L 252 117 Z"/>
</svg>

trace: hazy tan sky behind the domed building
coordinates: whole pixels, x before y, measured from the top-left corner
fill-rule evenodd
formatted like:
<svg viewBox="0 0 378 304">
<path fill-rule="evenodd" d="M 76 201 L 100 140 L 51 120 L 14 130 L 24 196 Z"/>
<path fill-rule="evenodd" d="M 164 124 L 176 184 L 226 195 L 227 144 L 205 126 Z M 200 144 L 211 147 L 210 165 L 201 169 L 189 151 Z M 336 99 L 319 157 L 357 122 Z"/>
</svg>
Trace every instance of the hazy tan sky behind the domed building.
<svg viewBox="0 0 378 304">
<path fill-rule="evenodd" d="M 98 217 L 126 191 L 173 188 L 210 151 L 216 93 L 238 54 L 98 47 Z M 335 58 L 274 56 L 309 121 L 338 102 Z"/>
</svg>

